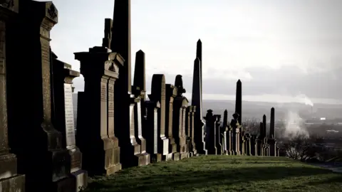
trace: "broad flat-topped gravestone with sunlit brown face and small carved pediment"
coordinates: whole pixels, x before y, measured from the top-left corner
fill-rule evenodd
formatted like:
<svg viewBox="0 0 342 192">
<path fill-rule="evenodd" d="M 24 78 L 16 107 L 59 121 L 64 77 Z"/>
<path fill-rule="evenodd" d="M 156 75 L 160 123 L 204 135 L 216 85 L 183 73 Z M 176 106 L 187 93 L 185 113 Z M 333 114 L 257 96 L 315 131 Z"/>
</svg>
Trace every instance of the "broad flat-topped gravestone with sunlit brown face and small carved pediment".
<svg viewBox="0 0 342 192">
<path fill-rule="evenodd" d="M 121 169 L 114 127 L 114 86 L 124 60 L 105 47 L 74 54 L 85 82 L 84 92 L 78 95 L 81 107 L 76 135 L 83 152 L 83 167 L 91 176 L 114 174 Z"/>
</svg>

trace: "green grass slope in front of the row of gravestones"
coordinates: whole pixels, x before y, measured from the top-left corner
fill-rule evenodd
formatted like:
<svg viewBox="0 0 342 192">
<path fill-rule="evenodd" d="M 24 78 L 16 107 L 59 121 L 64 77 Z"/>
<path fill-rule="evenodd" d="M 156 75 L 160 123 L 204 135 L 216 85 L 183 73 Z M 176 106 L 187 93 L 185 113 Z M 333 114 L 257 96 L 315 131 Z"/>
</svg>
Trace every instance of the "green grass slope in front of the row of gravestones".
<svg viewBox="0 0 342 192">
<path fill-rule="evenodd" d="M 342 191 L 342 174 L 283 157 L 196 156 L 92 178 L 86 191 Z"/>
</svg>

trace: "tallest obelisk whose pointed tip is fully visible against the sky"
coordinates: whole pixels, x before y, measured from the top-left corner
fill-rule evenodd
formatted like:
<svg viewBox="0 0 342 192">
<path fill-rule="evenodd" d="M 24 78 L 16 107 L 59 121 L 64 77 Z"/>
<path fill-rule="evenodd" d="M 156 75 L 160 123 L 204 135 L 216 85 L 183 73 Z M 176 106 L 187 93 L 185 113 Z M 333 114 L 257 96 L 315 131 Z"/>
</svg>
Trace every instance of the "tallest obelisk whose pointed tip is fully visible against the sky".
<svg viewBox="0 0 342 192">
<path fill-rule="evenodd" d="M 200 41 L 199 41 L 200 43 Z M 197 43 L 198 46 L 198 43 Z M 200 53 L 200 54 L 199 54 Z M 202 44 L 201 50 L 197 48 L 197 56 L 202 57 Z M 194 61 L 194 75 L 192 80 L 192 99 L 191 105 L 196 106 L 196 114 L 195 114 L 195 144 L 196 150 L 199 154 L 207 154 L 207 150 L 205 149 L 204 142 L 204 122 L 202 117 L 202 73 L 201 73 L 201 60 L 196 58 Z"/>
</svg>

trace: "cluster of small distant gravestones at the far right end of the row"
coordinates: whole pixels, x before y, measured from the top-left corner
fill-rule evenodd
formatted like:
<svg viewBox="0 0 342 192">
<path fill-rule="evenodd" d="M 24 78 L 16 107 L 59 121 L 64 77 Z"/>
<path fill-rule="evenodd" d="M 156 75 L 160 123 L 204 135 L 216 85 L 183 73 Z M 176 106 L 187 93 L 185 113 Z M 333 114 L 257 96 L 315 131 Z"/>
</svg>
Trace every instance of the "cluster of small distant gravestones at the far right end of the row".
<svg viewBox="0 0 342 192">
<path fill-rule="evenodd" d="M 228 112 L 224 111 L 223 122 L 221 115 L 207 111 L 206 135 L 208 154 L 249 155 L 249 156 L 279 156 L 279 147 L 274 137 L 274 108 L 271 108 L 271 122 L 269 137 L 266 136 L 266 115 L 260 122 L 259 134 L 244 132 L 239 123 L 239 114 L 234 113 L 228 124 Z"/>
</svg>

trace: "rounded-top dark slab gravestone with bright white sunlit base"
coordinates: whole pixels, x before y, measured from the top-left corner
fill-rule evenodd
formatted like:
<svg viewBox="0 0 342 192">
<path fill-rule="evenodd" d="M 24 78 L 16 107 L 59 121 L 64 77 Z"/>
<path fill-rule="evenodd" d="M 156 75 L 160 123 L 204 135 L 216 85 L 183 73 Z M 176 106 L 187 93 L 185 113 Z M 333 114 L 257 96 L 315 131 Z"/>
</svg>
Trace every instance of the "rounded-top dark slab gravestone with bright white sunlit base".
<svg viewBox="0 0 342 192">
<path fill-rule="evenodd" d="M 165 75 L 154 74 L 152 76 L 151 95 L 149 95 L 149 98 L 153 102 L 160 102 L 160 108 L 158 109 L 157 113 L 158 153 L 162 154 L 163 160 L 169 161 L 172 159 L 172 153 L 169 152 L 169 139 L 167 139 L 165 132 Z"/>
</svg>

